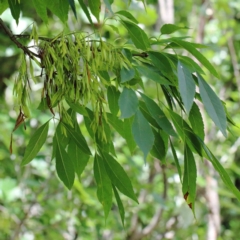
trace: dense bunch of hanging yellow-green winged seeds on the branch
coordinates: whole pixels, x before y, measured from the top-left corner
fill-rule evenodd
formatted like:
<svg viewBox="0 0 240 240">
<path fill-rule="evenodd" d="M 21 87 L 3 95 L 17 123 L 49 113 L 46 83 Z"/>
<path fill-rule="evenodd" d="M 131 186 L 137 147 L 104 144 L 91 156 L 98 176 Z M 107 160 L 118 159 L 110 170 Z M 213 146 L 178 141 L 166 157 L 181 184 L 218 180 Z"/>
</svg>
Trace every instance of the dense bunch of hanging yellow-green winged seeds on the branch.
<svg viewBox="0 0 240 240">
<path fill-rule="evenodd" d="M 92 128 L 94 131 L 101 126 L 105 118 L 104 105 L 106 87 L 111 83 L 103 76 L 103 72 L 119 75 L 120 69 L 130 66 L 128 59 L 109 43 L 93 40 L 79 33 L 58 35 L 54 39 L 43 39 L 34 34 L 35 42 L 39 42 L 38 55 L 42 68 L 43 89 L 41 103 L 55 115 L 55 107 L 60 117 L 68 118 L 63 106 L 63 100 L 90 106 L 94 112 Z M 29 71 L 34 79 L 32 61 L 30 58 Z M 37 61 L 36 61 L 37 62 Z M 117 82 L 116 82 L 117 84 Z M 14 92 L 17 95 L 25 116 L 29 116 L 27 107 L 28 91 L 31 90 L 27 74 L 26 57 L 23 54 L 19 76 L 15 82 Z M 71 121 L 68 121 L 71 124 Z"/>
</svg>

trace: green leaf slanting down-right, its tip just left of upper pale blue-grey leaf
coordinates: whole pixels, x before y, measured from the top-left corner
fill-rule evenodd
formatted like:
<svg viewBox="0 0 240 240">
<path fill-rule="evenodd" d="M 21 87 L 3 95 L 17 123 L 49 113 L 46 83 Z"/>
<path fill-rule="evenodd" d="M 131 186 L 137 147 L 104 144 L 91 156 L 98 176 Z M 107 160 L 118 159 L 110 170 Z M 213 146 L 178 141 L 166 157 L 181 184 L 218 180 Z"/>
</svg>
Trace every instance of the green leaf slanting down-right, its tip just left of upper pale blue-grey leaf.
<svg viewBox="0 0 240 240">
<path fill-rule="evenodd" d="M 141 75 L 143 75 L 147 79 L 153 80 L 156 83 L 163 84 L 163 85 L 172 85 L 170 81 L 162 77 L 157 72 L 154 72 L 152 68 L 141 65 L 137 67 L 137 70 Z"/>
</svg>

